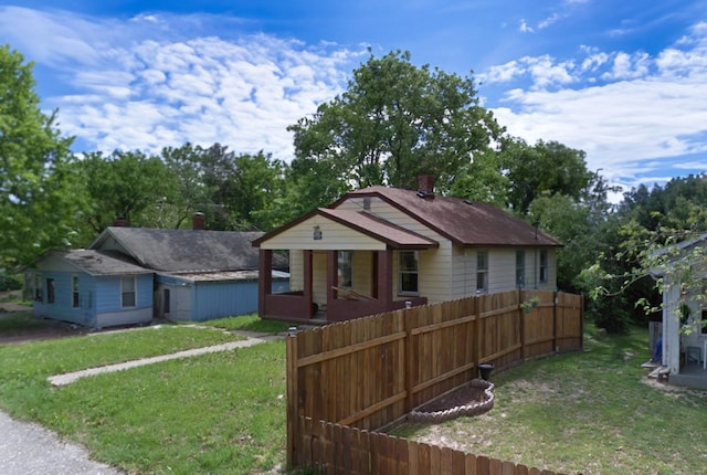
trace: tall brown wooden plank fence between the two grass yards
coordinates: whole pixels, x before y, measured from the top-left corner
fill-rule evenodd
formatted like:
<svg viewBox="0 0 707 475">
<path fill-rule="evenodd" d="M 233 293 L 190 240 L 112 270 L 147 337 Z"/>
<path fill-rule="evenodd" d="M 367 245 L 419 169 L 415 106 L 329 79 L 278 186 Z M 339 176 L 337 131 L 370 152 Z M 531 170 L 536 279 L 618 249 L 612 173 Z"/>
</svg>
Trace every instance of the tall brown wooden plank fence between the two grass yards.
<svg viewBox="0 0 707 475">
<path fill-rule="evenodd" d="M 580 296 L 537 291 L 482 295 L 298 331 L 287 338 L 287 463 L 331 467 L 331 473 L 408 473 L 373 469 L 376 460 L 390 460 L 373 454 L 395 447 L 390 448 L 395 461 L 420 460 L 425 452 L 416 451 L 424 444 L 390 442 L 395 437 L 373 431 L 477 377 L 482 362 L 498 370 L 579 350 L 582 332 Z M 365 434 L 368 442 L 356 450 L 366 452 L 360 460 L 368 461 L 368 468 L 335 471 L 335 458 L 341 460 L 337 451 L 354 445 L 334 443 L 337 448 L 328 450 L 327 434 L 356 434 L 356 440 Z M 408 469 L 410 462 L 398 465 Z"/>
</svg>

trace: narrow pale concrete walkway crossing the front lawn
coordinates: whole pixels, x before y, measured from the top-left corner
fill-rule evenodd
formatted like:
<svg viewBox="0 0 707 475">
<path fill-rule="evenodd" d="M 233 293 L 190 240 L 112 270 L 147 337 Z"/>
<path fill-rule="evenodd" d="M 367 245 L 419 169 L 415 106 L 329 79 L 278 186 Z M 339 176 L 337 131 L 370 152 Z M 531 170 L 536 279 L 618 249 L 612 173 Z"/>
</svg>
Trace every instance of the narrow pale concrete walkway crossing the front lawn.
<svg viewBox="0 0 707 475">
<path fill-rule="evenodd" d="M 126 369 L 137 368 L 146 365 L 154 365 L 156 362 L 167 361 L 171 359 L 187 358 L 187 357 L 192 357 L 198 355 L 207 355 L 207 353 L 212 353 L 217 351 L 229 351 L 234 348 L 246 348 L 246 347 L 252 347 L 253 345 L 262 344 L 265 341 L 273 341 L 276 339 L 284 338 L 284 335 L 257 335 L 257 334 L 247 334 L 247 332 L 240 332 L 240 334 L 245 336 L 244 340 L 230 341 L 228 344 L 214 345 L 211 347 L 194 348 L 191 350 L 178 351 L 169 355 L 160 355 L 151 358 L 141 358 L 133 361 L 119 362 L 116 365 L 102 366 L 97 368 L 88 368 L 81 371 L 50 376 L 48 379 L 52 386 L 65 386 L 65 384 L 71 384 L 72 382 L 81 378 L 102 374 L 104 372 L 123 371 Z M 257 335 L 257 336 L 252 336 L 252 335 Z"/>
</svg>

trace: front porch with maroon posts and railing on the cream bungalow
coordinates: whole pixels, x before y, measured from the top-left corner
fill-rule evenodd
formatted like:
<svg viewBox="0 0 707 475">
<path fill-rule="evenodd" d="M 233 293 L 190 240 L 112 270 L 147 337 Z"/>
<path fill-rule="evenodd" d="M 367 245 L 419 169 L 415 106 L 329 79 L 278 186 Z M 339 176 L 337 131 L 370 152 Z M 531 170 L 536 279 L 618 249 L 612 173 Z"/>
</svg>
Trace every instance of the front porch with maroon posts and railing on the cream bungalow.
<svg viewBox="0 0 707 475">
<path fill-rule="evenodd" d="M 266 282 L 273 251 L 261 249 L 261 318 L 294 323 L 334 323 L 428 303 L 422 295 L 400 295 L 394 288 L 393 250 L 291 251 L 291 288 L 275 294 Z M 351 263 L 358 272 L 351 275 Z M 299 265 L 299 263 L 302 265 Z M 299 274 L 299 275 L 298 275 Z M 299 278 L 300 277 L 300 278 Z"/>
</svg>

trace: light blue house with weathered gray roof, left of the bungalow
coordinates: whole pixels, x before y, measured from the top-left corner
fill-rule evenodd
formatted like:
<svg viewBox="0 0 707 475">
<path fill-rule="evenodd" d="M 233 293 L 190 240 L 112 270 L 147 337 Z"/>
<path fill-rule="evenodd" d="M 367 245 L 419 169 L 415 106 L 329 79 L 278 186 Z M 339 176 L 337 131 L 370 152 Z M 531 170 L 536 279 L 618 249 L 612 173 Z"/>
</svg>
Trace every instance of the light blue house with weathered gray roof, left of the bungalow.
<svg viewBox="0 0 707 475">
<path fill-rule="evenodd" d="M 262 234 L 106 228 L 87 251 L 52 251 L 36 261 L 34 314 L 105 327 L 257 312 L 258 253 L 251 241 Z M 272 292 L 289 289 L 286 271 L 278 257 Z"/>
</svg>

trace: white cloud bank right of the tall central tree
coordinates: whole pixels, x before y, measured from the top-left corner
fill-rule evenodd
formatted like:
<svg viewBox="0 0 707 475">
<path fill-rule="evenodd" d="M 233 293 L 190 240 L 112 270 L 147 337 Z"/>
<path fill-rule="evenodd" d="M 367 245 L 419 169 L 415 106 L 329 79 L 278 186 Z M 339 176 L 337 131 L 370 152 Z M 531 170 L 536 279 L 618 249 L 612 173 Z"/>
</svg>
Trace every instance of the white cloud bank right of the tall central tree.
<svg viewBox="0 0 707 475">
<path fill-rule="evenodd" d="M 488 82 L 514 86 L 494 109 L 498 122 L 529 142 L 584 150 L 590 169 L 624 186 L 639 175 L 643 182 L 664 177 L 666 167 L 707 170 L 706 23 L 654 56 L 587 46 L 580 53 L 579 66 L 544 55 L 490 68 Z M 499 74 L 506 70 L 514 74 Z M 530 84 L 518 87 L 521 75 Z"/>
</svg>

